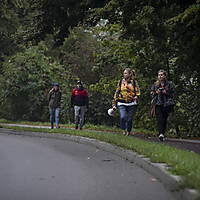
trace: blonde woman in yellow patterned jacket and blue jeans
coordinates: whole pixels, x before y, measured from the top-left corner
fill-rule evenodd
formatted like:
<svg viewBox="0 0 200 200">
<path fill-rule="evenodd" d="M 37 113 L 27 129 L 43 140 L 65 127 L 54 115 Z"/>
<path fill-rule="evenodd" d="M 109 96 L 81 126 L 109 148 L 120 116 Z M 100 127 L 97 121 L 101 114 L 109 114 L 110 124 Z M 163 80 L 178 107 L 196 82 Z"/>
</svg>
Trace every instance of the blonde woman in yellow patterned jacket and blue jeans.
<svg viewBox="0 0 200 200">
<path fill-rule="evenodd" d="M 126 68 L 124 78 L 119 81 L 113 100 L 113 110 L 118 108 L 120 114 L 120 127 L 123 135 L 130 135 L 132 130 L 133 116 L 136 112 L 137 98 L 140 89 L 134 80 L 135 72 Z"/>
</svg>

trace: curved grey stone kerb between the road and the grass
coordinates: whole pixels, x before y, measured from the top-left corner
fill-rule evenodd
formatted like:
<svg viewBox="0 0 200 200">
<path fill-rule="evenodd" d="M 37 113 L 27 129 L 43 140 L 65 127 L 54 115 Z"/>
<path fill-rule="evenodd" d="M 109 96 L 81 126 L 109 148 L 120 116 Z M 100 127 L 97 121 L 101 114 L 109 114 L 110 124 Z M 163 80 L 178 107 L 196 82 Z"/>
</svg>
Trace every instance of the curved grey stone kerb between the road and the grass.
<svg viewBox="0 0 200 200">
<path fill-rule="evenodd" d="M 93 145 L 104 151 L 116 154 L 131 163 L 135 163 L 137 166 L 143 168 L 149 174 L 157 178 L 177 200 L 195 200 L 198 192 L 192 189 L 181 189 L 180 188 L 180 176 L 172 175 L 168 171 L 168 166 L 164 163 L 152 163 L 149 158 L 143 155 L 139 155 L 131 150 L 126 150 L 121 147 L 109 144 L 96 139 L 72 136 L 60 133 L 44 133 L 44 132 L 28 132 L 28 131 L 16 131 L 14 129 L 1 128 L 0 134 L 14 134 L 23 135 L 30 137 L 46 137 L 53 139 L 65 139 L 74 141 L 81 144 Z"/>
</svg>

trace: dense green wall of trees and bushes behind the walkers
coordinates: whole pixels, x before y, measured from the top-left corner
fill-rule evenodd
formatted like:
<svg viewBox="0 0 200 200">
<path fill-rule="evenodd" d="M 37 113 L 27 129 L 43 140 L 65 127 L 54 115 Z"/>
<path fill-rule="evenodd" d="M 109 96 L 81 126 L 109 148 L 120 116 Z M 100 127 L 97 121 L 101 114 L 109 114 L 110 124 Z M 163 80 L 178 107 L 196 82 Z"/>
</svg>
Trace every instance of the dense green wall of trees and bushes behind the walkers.
<svg viewBox="0 0 200 200">
<path fill-rule="evenodd" d="M 159 69 L 175 86 L 169 132 L 200 136 L 200 0 L 0 0 L 0 117 L 49 121 L 47 95 L 62 90 L 61 122 L 81 79 L 86 121 L 118 126 L 107 110 L 123 70 L 141 89 L 134 127 L 155 129 L 150 88 Z"/>
</svg>

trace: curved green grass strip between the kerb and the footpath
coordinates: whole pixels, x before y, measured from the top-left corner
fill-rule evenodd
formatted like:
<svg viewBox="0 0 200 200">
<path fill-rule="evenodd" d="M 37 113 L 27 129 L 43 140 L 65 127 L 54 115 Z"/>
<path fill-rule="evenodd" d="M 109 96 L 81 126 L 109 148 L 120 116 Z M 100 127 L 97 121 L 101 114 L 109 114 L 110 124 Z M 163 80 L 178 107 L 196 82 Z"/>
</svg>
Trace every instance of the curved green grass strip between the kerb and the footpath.
<svg viewBox="0 0 200 200">
<path fill-rule="evenodd" d="M 104 142 L 108 142 L 119 147 L 129 149 L 138 154 L 145 155 L 152 162 L 166 163 L 170 166 L 170 171 L 173 174 L 183 177 L 182 187 L 196 189 L 200 192 L 200 155 L 193 152 L 179 150 L 165 144 L 157 144 L 141 140 L 134 137 L 124 137 L 120 134 L 111 132 L 95 132 L 95 131 L 79 131 L 65 128 L 60 129 L 39 129 L 27 127 L 9 127 L 2 125 L 5 128 L 24 130 L 32 132 L 48 132 L 62 133 L 68 135 L 76 135 L 88 138 L 94 138 Z"/>
</svg>

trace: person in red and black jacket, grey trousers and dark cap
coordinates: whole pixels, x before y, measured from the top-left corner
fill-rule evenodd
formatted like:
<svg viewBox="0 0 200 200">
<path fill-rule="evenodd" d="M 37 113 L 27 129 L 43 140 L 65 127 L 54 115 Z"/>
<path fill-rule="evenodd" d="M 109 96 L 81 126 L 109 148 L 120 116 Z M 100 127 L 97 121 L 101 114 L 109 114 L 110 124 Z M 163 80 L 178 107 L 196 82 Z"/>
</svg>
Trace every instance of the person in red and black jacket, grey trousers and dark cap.
<svg viewBox="0 0 200 200">
<path fill-rule="evenodd" d="M 75 129 L 83 128 L 85 109 L 88 109 L 88 94 L 81 81 L 77 82 L 76 88 L 72 91 L 71 107 L 74 108 Z"/>
</svg>

